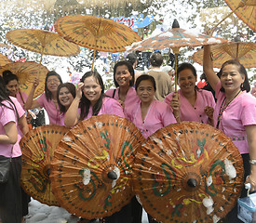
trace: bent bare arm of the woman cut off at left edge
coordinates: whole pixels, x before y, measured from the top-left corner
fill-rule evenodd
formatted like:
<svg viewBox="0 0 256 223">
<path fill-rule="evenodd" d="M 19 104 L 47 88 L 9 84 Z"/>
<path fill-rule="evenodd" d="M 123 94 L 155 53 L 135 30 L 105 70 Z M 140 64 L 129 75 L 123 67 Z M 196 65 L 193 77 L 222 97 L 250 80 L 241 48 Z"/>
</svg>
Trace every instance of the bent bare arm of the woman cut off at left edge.
<svg viewBox="0 0 256 223">
<path fill-rule="evenodd" d="M 15 144 L 18 139 L 17 127 L 14 122 L 9 122 L 4 125 L 6 135 L 0 135 L 1 144 Z"/>
</svg>

